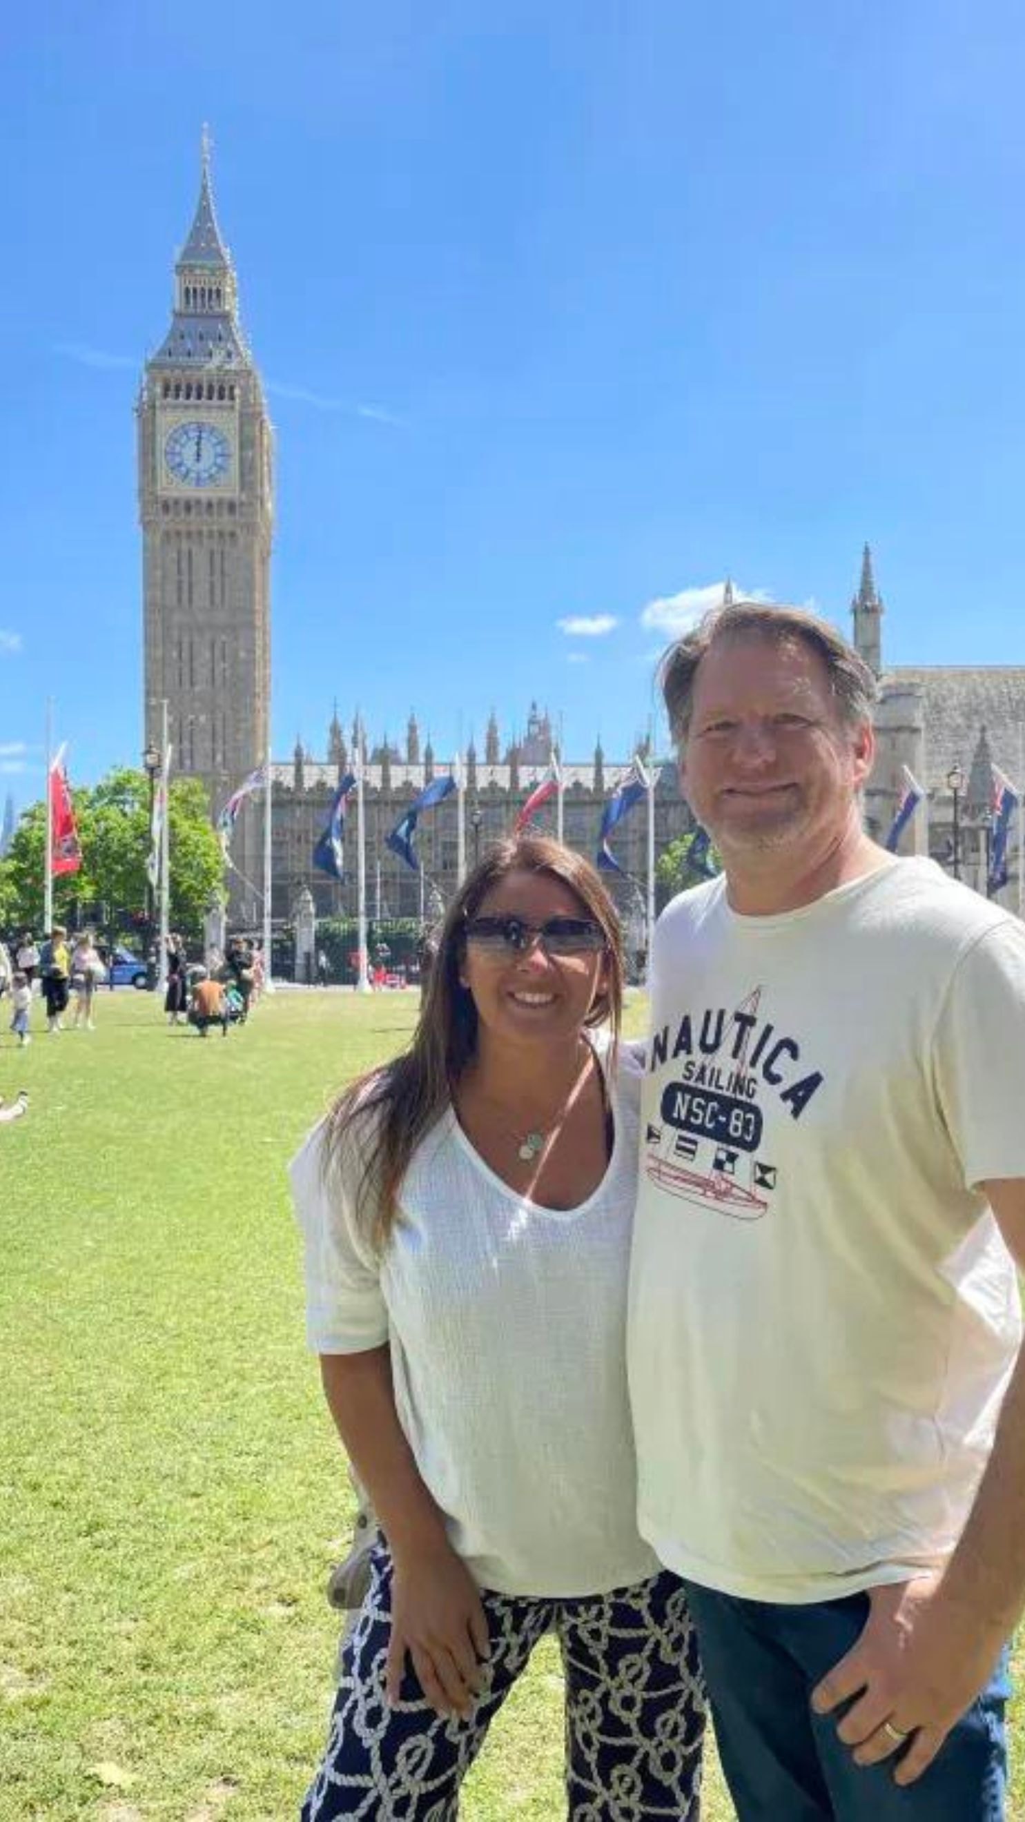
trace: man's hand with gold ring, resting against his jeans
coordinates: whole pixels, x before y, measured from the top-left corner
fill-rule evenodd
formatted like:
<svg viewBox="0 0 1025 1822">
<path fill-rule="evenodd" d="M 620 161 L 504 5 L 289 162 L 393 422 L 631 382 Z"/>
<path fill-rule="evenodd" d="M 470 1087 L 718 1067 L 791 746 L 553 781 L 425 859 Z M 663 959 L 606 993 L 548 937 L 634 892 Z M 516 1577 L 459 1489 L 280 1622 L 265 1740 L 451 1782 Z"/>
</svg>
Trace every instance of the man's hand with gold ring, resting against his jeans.
<svg viewBox="0 0 1025 1822">
<path fill-rule="evenodd" d="M 945 1600 L 937 1574 L 868 1591 L 857 1643 L 812 1691 L 815 1715 L 852 1704 L 837 1724 L 859 1766 L 901 1753 L 897 1784 L 914 1784 L 950 1727 L 987 1687 L 1003 1640 Z"/>
</svg>

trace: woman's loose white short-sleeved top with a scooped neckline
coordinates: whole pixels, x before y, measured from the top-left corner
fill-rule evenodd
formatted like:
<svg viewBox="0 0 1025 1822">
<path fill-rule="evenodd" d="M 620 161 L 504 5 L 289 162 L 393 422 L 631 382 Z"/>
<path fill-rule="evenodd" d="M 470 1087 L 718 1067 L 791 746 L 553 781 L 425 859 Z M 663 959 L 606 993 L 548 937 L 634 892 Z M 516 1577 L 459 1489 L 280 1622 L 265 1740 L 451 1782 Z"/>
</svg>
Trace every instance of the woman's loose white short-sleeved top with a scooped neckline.
<svg viewBox="0 0 1025 1822">
<path fill-rule="evenodd" d="M 325 1188 L 323 1128 L 292 1162 L 308 1343 L 388 1343 L 399 1423 L 450 1543 L 505 1594 L 602 1594 L 658 1569 L 637 1530 L 626 1387 L 640 1091 L 629 1055 L 609 1090 L 613 1157 L 571 1210 L 502 1182 L 449 1111 L 414 1153 L 383 1257 L 356 1223 L 357 1172 Z"/>
</svg>

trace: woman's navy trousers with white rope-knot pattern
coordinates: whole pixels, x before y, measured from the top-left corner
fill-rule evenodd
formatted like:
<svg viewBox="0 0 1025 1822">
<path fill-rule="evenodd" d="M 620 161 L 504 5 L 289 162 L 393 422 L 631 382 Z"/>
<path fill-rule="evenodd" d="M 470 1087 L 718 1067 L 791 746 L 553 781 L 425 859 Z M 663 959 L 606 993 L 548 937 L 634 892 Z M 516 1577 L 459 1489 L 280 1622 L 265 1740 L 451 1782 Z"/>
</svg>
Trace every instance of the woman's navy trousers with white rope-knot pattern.
<svg viewBox="0 0 1025 1822">
<path fill-rule="evenodd" d="M 303 1822 L 452 1822 L 489 1724 L 545 1633 L 558 1636 L 565 1671 L 571 1822 L 699 1822 L 704 1687 L 677 1576 L 584 1600 L 481 1589 L 491 1658 L 465 1718 L 436 1715 L 409 1662 L 388 1707 L 390 1585 L 390 1558 L 379 1549 L 345 1643 L 328 1745 Z"/>
</svg>

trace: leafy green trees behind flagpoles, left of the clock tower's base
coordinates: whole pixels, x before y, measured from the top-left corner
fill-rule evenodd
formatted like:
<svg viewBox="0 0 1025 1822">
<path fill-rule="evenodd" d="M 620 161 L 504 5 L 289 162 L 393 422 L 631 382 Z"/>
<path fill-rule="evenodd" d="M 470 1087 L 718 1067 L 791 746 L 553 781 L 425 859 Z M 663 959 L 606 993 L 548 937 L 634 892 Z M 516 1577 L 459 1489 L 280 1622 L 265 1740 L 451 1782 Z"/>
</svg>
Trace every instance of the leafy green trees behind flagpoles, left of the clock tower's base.
<svg viewBox="0 0 1025 1822">
<path fill-rule="evenodd" d="M 146 916 L 150 855 L 150 780 L 128 765 L 93 787 L 73 791 L 82 867 L 53 882 L 53 915 L 77 926 L 88 915 L 115 935 L 139 931 Z M 210 825 L 206 791 L 197 778 L 171 778 L 170 789 L 171 929 L 199 937 L 202 915 L 223 889 L 221 842 Z M 42 926 L 46 813 L 33 804 L 0 860 L 0 920 L 7 929 Z"/>
</svg>

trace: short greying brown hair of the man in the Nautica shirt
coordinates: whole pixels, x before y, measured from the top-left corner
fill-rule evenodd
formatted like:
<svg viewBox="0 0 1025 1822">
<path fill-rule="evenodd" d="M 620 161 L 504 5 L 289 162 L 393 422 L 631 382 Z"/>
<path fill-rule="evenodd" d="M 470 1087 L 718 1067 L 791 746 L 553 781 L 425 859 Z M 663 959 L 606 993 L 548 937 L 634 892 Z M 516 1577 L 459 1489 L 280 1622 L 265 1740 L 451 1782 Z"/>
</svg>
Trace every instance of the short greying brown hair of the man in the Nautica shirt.
<svg viewBox="0 0 1025 1822">
<path fill-rule="evenodd" d="M 875 678 L 852 645 L 830 627 L 828 619 L 810 614 L 804 607 L 770 607 L 764 601 L 731 601 L 711 612 L 684 632 L 669 647 L 658 665 L 658 683 L 673 740 L 688 738 L 697 669 L 708 650 L 720 640 L 753 634 L 775 645 L 801 641 L 823 660 L 837 712 L 844 727 L 863 727 L 872 722 L 877 687 Z"/>
</svg>

